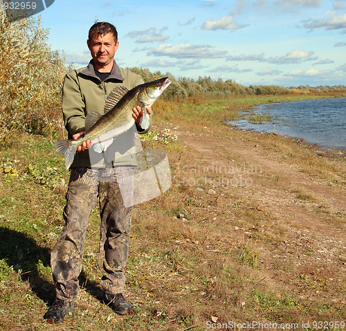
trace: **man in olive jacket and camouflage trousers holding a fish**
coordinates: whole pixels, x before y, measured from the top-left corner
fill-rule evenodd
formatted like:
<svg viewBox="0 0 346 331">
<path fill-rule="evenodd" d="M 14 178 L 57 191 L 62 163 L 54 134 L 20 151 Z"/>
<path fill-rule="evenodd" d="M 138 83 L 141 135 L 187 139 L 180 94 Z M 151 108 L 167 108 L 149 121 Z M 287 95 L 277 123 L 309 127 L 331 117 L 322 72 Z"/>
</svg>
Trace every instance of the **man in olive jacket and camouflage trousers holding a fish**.
<svg viewBox="0 0 346 331">
<path fill-rule="evenodd" d="M 94 24 L 89 30 L 87 44 L 92 60 L 86 68 L 67 74 L 62 89 L 65 127 L 69 137 L 75 140 L 85 131 L 86 115 L 90 111 L 103 113 L 105 99 L 115 87 L 132 89 L 138 84 L 143 84 L 143 79 L 139 75 L 120 68 L 113 60 L 119 46 L 115 26 L 107 22 Z M 147 112 L 152 112 L 149 107 Z M 64 321 L 64 316 L 74 309 L 74 301 L 79 293 L 78 276 L 82 271 L 86 226 L 97 197 L 101 217 L 98 265 L 103 275 L 101 287 L 104 291 L 104 301 L 118 314 L 133 312 L 131 305 L 122 296 L 125 285 L 123 270 L 127 262 L 132 211 L 131 206 L 125 207 L 123 199 L 125 191 L 131 196 L 133 190 L 133 183 L 129 178 L 133 175 L 136 165 L 134 131 L 148 131 L 140 128 L 141 116 L 143 109 L 135 107 L 134 130 L 129 129 L 116 137 L 107 149 L 107 157 L 106 153 L 95 156 L 97 153 L 92 154 L 91 150 L 89 152 L 90 141 L 78 147 L 78 153 L 71 165 L 69 189 L 66 194 L 66 225 L 51 253 L 56 299 L 44 316 L 50 323 Z"/>
</svg>

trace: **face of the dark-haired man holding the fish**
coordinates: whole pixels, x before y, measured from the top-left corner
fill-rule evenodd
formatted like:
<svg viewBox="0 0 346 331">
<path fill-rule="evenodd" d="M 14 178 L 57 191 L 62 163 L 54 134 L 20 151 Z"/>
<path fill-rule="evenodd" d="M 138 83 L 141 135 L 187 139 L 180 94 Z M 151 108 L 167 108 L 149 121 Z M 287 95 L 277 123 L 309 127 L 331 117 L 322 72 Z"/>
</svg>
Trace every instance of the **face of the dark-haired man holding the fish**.
<svg viewBox="0 0 346 331">
<path fill-rule="evenodd" d="M 118 50 L 119 42 L 116 42 L 112 33 L 93 36 L 87 41 L 93 63 L 96 69 L 113 66 L 113 57 Z"/>
</svg>

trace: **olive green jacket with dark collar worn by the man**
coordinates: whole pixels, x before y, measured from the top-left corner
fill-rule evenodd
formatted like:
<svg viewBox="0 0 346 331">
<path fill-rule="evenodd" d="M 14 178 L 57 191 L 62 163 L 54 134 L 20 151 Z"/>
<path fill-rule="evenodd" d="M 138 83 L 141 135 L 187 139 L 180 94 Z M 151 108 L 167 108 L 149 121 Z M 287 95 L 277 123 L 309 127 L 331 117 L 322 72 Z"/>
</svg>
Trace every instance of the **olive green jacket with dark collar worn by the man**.
<svg viewBox="0 0 346 331">
<path fill-rule="evenodd" d="M 103 82 L 95 75 L 93 60 L 85 68 L 68 73 L 62 88 L 62 114 L 69 138 L 72 138 L 73 134 L 84 131 L 85 118 L 90 111 L 103 114 L 105 100 L 115 87 L 125 86 L 130 90 L 143 83 L 140 75 L 120 68 L 115 61 L 111 74 Z M 98 154 L 93 150 L 90 153 L 89 150 L 85 150 L 76 154 L 71 168 L 136 165 L 134 132 L 143 134 L 148 130 L 143 131 L 134 125 L 127 132 L 116 137 L 105 152 Z"/>
</svg>

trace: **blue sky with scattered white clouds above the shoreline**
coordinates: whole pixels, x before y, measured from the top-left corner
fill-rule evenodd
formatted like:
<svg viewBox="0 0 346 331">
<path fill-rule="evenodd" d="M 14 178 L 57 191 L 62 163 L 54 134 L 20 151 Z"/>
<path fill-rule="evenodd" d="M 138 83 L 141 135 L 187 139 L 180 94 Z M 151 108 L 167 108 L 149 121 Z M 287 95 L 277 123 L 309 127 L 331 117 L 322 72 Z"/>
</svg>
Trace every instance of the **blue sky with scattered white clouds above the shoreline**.
<svg viewBox="0 0 346 331">
<path fill-rule="evenodd" d="M 95 21 L 118 30 L 119 66 L 243 85 L 346 84 L 346 0 L 55 0 L 48 44 L 76 68 Z"/>
</svg>

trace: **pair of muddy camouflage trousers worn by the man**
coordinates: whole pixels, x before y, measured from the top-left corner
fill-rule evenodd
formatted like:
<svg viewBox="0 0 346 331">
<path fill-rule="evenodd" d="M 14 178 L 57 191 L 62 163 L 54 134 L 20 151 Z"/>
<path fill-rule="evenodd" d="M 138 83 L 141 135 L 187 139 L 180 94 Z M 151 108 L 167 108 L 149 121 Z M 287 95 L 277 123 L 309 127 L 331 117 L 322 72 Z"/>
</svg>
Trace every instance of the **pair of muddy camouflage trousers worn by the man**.
<svg viewBox="0 0 346 331">
<path fill-rule="evenodd" d="M 89 214 L 97 198 L 100 203 L 101 287 L 106 294 L 122 293 L 124 268 L 129 251 L 134 167 L 107 169 L 73 168 L 66 194 L 66 222 L 51 253 L 57 298 L 73 301 L 80 292 L 78 276 L 82 271 L 83 244 Z M 126 207 L 126 206 L 128 207 Z"/>
</svg>

